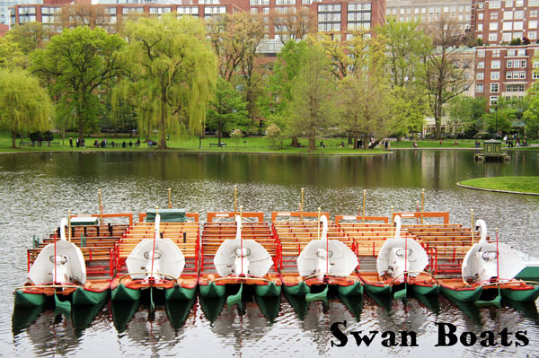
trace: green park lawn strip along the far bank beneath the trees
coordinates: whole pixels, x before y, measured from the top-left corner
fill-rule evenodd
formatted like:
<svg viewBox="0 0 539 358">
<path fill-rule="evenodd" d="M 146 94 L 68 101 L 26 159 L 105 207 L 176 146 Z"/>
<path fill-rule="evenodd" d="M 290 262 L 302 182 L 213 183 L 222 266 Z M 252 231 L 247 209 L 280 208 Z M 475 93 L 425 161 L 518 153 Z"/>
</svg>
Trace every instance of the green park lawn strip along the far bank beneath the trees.
<svg viewBox="0 0 539 358">
<path fill-rule="evenodd" d="M 72 137 L 74 140 L 73 148 L 69 146 L 69 137 Z M 31 153 L 31 152 L 89 152 L 89 151 L 155 151 L 154 148 L 149 148 L 146 143 L 141 143 L 140 147 L 135 147 L 135 145 L 126 148 L 121 146 L 117 147 L 107 147 L 107 148 L 95 148 L 93 143 L 97 139 L 100 143 L 103 138 L 107 138 L 108 144 L 115 142 L 116 144 L 121 144 L 126 142 L 127 144 L 132 142 L 135 144 L 137 142 L 138 136 L 133 135 L 132 137 L 128 134 L 120 134 L 118 137 L 113 134 L 101 134 L 101 135 L 90 135 L 85 136 L 84 140 L 86 146 L 84 148 L 76 148 L 75 146 L 75 133 L 68 133 L 66 135 L 66 140 L 62 141 L 61 137 L 57 137 L 52 140 L 50 146 L 47 142 L 43 142 L 41 146 L 28 146 L 22 145 L 22 147 L 12 148 L 12 139 L 9 134 L 0 133 L 0 153 Z M 152 140 L 156 141 L 157 137 L 155 135 L 151 136 Z M 144 138 L 141 138 L 141 141 Z M 185 151 L 185 152 L 233 152 L 233 153 L 308 153 L 307 152 L 307 139 L 300 138 L 299 142 L 302 145 L 301 148 L 292 148 L 288 147 L 290 144 L 290 138 L 283 140 L 282 147 L 280 144 L 272 146 L 270 141 L 263 136 L 254 136 L 254 137 L 243 137 L 239 139 L 234 138 L 222 138 L 221 142 L 226 144 L 225 147 L 218 147 L 216 145 L 218 140 L 214 136 L 203 137 L 201 140 L 201 148 L 199 148 L 199 138 L 198 137 L 186 137 L 186 138 L 174 138 L 171 137 L 167 141 L 167 146 L 171 151 Z M 323 144 L 325 147 L 320 146 L 321 140 L 317 140 L 317 148 L 313 154 L 376 154 L 383 153 L 380 149 L 376 150 L 357 150 L 351 148 L 349 145 L 345 145 L 344 148 L 340 147 L 342 142 L 346 142 L 346 139 L 343 138 L 327 138 L 323 139 Z M 21 142 L 20 139 L 17 139 L 17 145 Z M 23 142 L 30 142 L 30 139 L 25 138 Z"/>
</svg>

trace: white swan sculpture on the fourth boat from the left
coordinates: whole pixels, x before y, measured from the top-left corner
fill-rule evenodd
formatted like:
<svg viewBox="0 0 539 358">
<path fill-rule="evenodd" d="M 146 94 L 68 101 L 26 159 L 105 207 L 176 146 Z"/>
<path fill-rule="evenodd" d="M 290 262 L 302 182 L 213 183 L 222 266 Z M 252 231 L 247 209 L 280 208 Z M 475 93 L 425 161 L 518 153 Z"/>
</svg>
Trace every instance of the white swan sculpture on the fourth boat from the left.
<svg viewBox="0 0 539 358">
<path fill-rule="evenodd" d="M 323 230 L 320 240 L 311 240 L 297 258 L 299 275 L 350 275 L 358 266 L 354 252 L 339 240 L 328 240 L 328 218 L 320 218 Z"/>
</svg>

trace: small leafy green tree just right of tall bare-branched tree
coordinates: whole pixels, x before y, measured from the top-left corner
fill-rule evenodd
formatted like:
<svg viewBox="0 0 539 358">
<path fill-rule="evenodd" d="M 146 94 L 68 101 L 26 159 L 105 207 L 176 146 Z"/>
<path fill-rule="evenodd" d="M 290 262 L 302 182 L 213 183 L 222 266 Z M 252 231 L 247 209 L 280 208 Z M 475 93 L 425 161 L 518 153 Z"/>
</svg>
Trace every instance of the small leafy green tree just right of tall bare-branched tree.
<svg viewBox="0 0 539 358">
<path fill-rule="evenodd" d="M 487 101 L 483 97 L 460 95 L 448 102 L 447 112 L 455 127 L 464 125 L 473 132 L 479 132 L 482 130 L 482 118 L 486 108 Z"/>
</svg>

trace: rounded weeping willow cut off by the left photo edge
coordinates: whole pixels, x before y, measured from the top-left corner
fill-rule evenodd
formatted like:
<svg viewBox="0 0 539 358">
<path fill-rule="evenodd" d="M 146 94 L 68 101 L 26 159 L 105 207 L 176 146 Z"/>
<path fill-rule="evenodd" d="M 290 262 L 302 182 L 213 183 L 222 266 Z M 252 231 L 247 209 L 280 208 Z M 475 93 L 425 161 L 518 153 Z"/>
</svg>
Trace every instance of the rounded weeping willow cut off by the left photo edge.
<svg viewBox="0 0 539 358">
<path fill-rule="evenodd" d="M 0 70 L 0 129 L 16 137 L 23 132 L 49 130 L 53 107 L 40 82 L 22 70 Z"/>
</svg>

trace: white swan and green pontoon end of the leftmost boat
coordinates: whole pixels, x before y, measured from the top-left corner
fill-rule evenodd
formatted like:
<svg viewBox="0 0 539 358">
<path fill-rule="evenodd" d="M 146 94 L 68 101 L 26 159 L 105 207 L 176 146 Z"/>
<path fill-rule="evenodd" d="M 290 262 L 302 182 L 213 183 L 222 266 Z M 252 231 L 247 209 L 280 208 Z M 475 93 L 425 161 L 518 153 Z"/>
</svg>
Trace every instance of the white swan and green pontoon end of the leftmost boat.
<svg viewBox="0 0 539 358">
<path fill-rule="evenodd" d="M 66 240 L 67 219 L 60 223 L 60 240 L 46 245 L 33 262 L 28 281 L 14 292 L 17 307 L 35 307 L 54 298 L 57 307 L 98 304 L 109 294 L 110 280 L 87 280 L 84 255 Z"/>
</svg>

